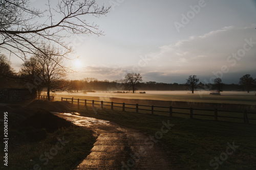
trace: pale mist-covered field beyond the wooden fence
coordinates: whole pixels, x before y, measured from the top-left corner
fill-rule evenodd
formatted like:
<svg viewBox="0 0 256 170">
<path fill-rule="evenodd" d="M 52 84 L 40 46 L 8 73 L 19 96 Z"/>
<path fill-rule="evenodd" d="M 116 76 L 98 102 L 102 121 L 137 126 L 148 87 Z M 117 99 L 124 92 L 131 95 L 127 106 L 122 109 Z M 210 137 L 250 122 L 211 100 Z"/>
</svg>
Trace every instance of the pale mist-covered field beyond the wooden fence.
<svg viewBox="0 0 256 170">
<path fill-rule="evenodd" d="M 205 103 L 228 103 L 256 105 L 256 93 L 251 91 L 223 91 L 221 95 L 210 95 L 210 91 L 145 91 L 146 93 L 114 93 L 114 92 L 60 92 L 55 94 L 55 100 L 61 98 L 87 99 L 98 101 L 111 101 L 111 98 L 160 100 L 160 101 L 184 101 Z"/>
</svg>

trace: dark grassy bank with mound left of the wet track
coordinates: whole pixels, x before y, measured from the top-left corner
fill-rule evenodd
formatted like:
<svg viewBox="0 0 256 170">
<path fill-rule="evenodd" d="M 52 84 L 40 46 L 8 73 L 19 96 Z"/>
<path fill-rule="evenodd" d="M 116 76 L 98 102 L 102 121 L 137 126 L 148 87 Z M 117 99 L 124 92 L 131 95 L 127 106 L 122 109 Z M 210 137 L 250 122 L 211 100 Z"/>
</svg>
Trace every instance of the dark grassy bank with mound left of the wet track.
<svg viewBox="0 0 256 170">
<path fill-rule="evenodd" d="M 9 138 L 8 167 L 1 163 L 0 169 L 70 170 L 86 158 L 96 140 L 92 132 L 49 112 L 64 111 L 70 105 L 68 102 L 33 101 L 26 106 L 0 106 L 0 119 L 8 112 Z M 0 129 L 4 129 L 2 123 Z M 0 148 L 4 150 L 3 142 Z M 3 154 L 0 152 L 1 157 Z"/>
</svg>

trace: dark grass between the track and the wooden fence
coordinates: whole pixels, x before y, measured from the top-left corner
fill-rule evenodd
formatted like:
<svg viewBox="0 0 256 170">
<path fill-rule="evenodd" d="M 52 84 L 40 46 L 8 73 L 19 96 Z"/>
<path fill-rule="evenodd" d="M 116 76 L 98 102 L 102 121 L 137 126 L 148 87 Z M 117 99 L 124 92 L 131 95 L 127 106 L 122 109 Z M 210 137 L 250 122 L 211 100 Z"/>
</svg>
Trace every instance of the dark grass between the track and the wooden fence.
<svg viewBox="0 0 256 170">
<path fill-rule="evenodd" d="M 209 162 L 226 151 L 227 143 L 234 141 L 239 148 L 219 164 L 219 169 L 256 169 L 256 125 L 238 122 L 215 122 L 205 119 L 169 117 L 144 112 L 96 109 L 91 106 L 73 108 L 82 116 L 95 117 L 133 128 L 150 135 L 160 131 L 162 121 L 169 120 L 175 126 L 158 142 L 184 169 L 214 169 Z M 185 115 L 189 117 L 189 115 Z M 214 162 L 216 163 L 216 162 Z"/>
</svg>

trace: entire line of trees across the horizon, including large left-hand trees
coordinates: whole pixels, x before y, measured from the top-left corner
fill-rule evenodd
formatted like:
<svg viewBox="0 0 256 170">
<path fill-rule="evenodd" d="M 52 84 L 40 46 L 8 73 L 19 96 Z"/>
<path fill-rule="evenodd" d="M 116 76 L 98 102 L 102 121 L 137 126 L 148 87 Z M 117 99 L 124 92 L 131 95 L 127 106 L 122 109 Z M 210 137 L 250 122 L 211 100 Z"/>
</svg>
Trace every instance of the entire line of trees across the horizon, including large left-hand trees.
<svg viewBox="0 0 256 170">
<path fill-rule="evenodd" d="M 57 53 L 54 46 L 44 45 L 42 51 L 46 53 Z M 51 90 L 69 90 L 69 91 L 117 91 L 117 90 L 132 90 L 135 92 L 139 90 L 187 90 L 190 88 L 192 93 L 195 89 L 225 89 L 238 90 L 243 86 L 247 92 L 255 84 L 255 79 L 250 75 L 244 75 L 240 78 L 240 86 L 226 85 L 222 83 L 220 78 L 215 79 L 215 84 L 202 84 L 196 75 L 189 76 L 186 84 L 178 83 L 157 83 L 157 82 L 142 82 L 140 74 L 126 74 L 123 80 L 117 81 L 98 81 L 95 78 L 84 78 L 83 80 L 65 80 L 65 75 L 68 68 L 62 66 L 63 58 L 56 55 L 45 55 L 38 51 L 38 53 L 26 60 L 18 73 L 14 73 L 5 55 L 0 55 L 0 79 L 8 79 L 26 86 L 33 92 L 37 91 L 40 95 L 42 90 L 47 91 L 50 100 Z M 1 80 L 2 82 L 5 82 Z"/>
</svg>

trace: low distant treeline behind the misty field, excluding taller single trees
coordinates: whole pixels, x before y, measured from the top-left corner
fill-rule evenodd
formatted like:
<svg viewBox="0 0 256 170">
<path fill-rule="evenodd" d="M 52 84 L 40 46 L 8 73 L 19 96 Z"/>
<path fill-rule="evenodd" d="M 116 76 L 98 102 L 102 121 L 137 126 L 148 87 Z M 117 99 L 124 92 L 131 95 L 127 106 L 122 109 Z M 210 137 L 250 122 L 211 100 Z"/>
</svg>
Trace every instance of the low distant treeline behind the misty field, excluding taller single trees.
<svg viewBox="0 0 256 170">
<path fill-rule="evenodd" d="M 125 84 L 119 81 L 99 81 L 94 78 L 86 78 L 83 80 L 70 80 L 68 90 L 71 91 L 122 91 L 127 89 Z M 202 90 L 215 90 L 217 89 L 215 84 L 203 84 L 199 83 L 197 89 Z M 137 87 L 137 90 L 189 90 L 186 84 L 178 83 L 157 83 L 157 82 L 142 82 Z M 238 84 L 222 84 L 221 90 L 223 91 L 242 91 L 243 86 Z M 255 90 L 255 89 L 254 89 Z"/>
</svg>

